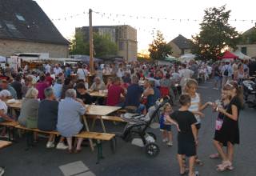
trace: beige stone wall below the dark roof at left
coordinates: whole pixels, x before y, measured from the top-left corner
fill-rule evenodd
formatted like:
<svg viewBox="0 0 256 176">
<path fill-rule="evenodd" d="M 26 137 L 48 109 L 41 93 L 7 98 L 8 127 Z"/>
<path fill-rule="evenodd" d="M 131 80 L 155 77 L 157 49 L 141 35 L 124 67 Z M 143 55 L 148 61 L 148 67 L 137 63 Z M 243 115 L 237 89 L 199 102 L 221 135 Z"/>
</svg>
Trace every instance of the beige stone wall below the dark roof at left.
<svg viewBox="0 0 256 176">
<path fill-rule="evenodd" d="M 18 53 L 49 53 L 50 58 L 68 58 L 69 46 L 0 39 L 0 55 L 9 57 Z"/>
</svg>

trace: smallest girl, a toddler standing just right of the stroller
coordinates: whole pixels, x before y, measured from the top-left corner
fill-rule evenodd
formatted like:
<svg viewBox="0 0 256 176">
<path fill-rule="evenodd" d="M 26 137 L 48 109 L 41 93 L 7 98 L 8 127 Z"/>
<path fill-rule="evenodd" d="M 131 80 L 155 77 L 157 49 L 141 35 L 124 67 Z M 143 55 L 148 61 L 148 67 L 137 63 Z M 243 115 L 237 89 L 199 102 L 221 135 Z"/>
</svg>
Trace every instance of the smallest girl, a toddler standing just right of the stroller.
<svg viewBox="0 0 256 176">
<path fill-rule="evenodd" d="M 160 117 L 160 130 L 162 131 L 162 142 L 167 142 L 167 146 L 173 146 L 173 135 L 171 133 L 171 124 L 166 121 L 166 117 L 170 115 L 172 108 L 169 103 L 163 106 L 163 113 Z"/>
</svg>

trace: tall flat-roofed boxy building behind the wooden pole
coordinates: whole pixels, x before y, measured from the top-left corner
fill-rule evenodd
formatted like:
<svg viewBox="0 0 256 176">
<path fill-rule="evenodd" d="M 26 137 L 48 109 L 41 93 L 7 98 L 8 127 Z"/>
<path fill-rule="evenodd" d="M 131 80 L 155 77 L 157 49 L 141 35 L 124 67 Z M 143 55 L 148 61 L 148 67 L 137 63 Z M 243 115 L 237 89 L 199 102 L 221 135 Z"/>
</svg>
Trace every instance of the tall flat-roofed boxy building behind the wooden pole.
<svg viewBox="0 0 256 176">
<path fill-rule="evenodd" d="M 82 33 L 85 41 L 89 40 L 89 26 L 76 28 L 76 33 Z M 126 61 L 137 60 L 137 30 L 128 25 L 122 26 L 93 26 L 93 31 L 100 35 L 108 35 L 118 46 L 118 56 Z"/>
</svg>

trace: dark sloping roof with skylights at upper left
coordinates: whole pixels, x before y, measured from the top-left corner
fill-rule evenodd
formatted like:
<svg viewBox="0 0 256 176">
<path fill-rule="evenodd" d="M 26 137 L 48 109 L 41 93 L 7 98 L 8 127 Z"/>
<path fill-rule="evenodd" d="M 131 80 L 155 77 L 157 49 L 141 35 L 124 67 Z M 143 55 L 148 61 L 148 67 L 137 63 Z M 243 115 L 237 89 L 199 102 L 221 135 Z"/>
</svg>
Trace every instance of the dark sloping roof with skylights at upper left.
<svg viewBox="0 0 256 176">
<path fill-rule="evenodd" d="M 69 45 L 32 0 L 0 0 L 0 38 Z"/>
</svg>

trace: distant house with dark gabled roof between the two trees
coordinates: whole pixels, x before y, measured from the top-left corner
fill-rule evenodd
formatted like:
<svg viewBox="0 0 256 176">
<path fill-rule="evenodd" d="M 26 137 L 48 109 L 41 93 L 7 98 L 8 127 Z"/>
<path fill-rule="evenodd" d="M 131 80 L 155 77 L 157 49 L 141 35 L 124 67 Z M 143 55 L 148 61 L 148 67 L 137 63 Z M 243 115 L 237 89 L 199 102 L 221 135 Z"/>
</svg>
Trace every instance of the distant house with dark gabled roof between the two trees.
<svg viewBox="0 0 256 176">
<path fill-rule="evenodd" d="M 190 40 L 183 37 L 181 34 L 168 43 L 171 46 L 172 55 L 179 58 L 182 54 L 191 53 Z"/>
</svg>

